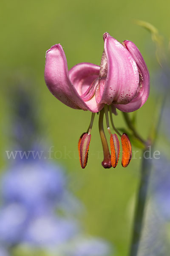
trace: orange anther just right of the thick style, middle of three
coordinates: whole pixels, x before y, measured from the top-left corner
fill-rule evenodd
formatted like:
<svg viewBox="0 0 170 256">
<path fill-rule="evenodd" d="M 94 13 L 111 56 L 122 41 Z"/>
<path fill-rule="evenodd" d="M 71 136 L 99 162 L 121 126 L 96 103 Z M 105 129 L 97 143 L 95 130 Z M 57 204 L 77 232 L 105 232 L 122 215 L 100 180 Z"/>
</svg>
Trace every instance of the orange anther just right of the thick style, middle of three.
<svg viewBox="0 0 170 256">
<path fill-rule="evenodd" d="M 119 161 L 119 154 L 120 154 L 120 145 L 119 145 L 119 140 L 116 134 L 111 134 L 110 143 L 111 143 L 111 165 L 113 168 L 115 168 Z"/>
</svg>

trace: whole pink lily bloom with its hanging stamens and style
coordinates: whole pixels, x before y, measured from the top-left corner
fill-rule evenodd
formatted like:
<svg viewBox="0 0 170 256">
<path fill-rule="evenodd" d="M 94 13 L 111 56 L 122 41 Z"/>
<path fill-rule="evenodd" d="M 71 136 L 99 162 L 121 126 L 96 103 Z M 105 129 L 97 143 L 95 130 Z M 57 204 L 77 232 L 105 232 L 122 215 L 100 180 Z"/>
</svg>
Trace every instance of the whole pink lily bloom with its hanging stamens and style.
<svg viewBox="0 0 170 256">
<path fill-rule="evenodd" d="M 136 111 L 146 102 L 150 90 L 149 71 L 136 45 L 131 41 L 124 41 L 120 44 L 108 33 L 105 33 L 103 38 L 104 51 L 100 66 L 80 63 L 68 71 L 65 53 L 60 44 L 52 46 L 46 52 L 45 83 L 51 93 L 71 108 L 92 112 L 89 130 L 79 140 L 82 168 L 85 168 L 87 164 L 94 113 L 100 111 L 102 116 L 99 118 L 99 131 L 104 151 L 102 165 L 105 168 L 110 168 L 111 165 L 116 167 L 119 154 L 115 152 L 119 152 L 119 140 L 116 134 L 111 134 L 107 120 L 108 131 L 112 136 L 111 152 L 116 155 L 116 157 L 112 157 L 112 162 L 113 158 L 116 159 L 116 162 L 112 164 L 102 127 L 104 107 L 106 118 L 108 106 L 110 106 L 110 116 L 116 108 L 123 112 Z M 113 123 L 112 117 L 111 121 Z M 117 130 L 116 132 L 119 134 Z M 123 141 L 125 142 L 125 140 L 129 140 L 127 134 L 123 136 Z M 127 145 L 130 145 L 129 143 L 130 141 Z M 113 147 L 117 147 L 116 151 L 112 150 Z M 128 148 L 131 150 L 131 145 Z M 127 163 L 130 162 L 132 154 L 128 155 L 130 158 Z M 124 159 L 122 161 L 124 167 L 127 166 L 127 164 L 123 164 L 125 162 Z"/>
</svg>

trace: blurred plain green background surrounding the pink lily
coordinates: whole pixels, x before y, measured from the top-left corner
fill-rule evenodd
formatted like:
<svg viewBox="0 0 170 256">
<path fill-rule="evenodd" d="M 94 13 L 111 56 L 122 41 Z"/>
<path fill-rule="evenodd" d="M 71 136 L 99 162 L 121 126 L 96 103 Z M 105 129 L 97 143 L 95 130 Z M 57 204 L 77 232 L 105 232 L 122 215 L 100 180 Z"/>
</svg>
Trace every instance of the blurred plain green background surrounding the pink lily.
<svg viewBox="0 0 170 256">
<path fill-rule="evenodd" d="M 139 182 L 140 154 L 136 154 L 126 169 L 121 163 L 116 169 L 103 169 L 102 150 L 98 131 L 98 116 L 94 121 L 87 167 L 79 165 L 77 142 L 87 129 L 91 113 L 76 111 L 59 102 L 49 93 L 44 82 L 45 51 L 60 43 L 68 61 L 68 69 L 79 62 L 100 64 L 103 39 L 109 32 L 122 42 L 133 41 L 142 52 L 149 70 L 158 65 L 155 47 L 147 31 L 134 23 L 145 20 L 169 37 L 168 1 L 1 1 L 1 93 L 0 93 L 0 166 L 7 164 L 5 151 L 10 139 L 10 108 L 6 87 L 20 81 L 29 81 L 31 90 L 38 95 L 37 110 L 42 125 L 42 143 L 48 142 L 57 163 L 62 163 L 71 175 L 70 189 L 85 204 L 80 215 L 82 225 L 93 236 L 113 243 L 115 256 L 127 255 L 136 189 Z M 150 128 L 154 98 L 138 111 L 139 132 L 147 136 Z M 35 111 L 37 111 L 35 110 Z M 122 114 L 115 117 L 116 127 L 124 125 Z M 139 150 L 133 147 L 133 150 Z"/>
</svg>

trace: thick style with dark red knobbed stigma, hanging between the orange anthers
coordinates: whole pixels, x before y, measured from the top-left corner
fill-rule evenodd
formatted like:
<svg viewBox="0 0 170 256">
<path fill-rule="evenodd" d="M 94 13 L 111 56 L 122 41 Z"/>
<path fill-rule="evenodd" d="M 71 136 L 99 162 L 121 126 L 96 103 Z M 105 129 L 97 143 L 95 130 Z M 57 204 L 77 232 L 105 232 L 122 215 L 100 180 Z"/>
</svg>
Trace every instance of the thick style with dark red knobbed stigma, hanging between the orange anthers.
<svg viewBox="0 0 170 256">
<path fill-rule="evenodd" d="M 105 131 L 103 129 L 103 116 L 104 116 L 104 109 L 100 111 L 100 115 L 99 115 L 99 133 L 102 140 L 102 147 L 103 147 L 103 154 L 104 154 L 104 160 L 102 161 L 102 166 L 104 168 L 111 168 L 111 154 L 110 154 L 108 143 L 105 137 Z"/>
</svg>

